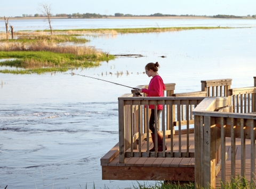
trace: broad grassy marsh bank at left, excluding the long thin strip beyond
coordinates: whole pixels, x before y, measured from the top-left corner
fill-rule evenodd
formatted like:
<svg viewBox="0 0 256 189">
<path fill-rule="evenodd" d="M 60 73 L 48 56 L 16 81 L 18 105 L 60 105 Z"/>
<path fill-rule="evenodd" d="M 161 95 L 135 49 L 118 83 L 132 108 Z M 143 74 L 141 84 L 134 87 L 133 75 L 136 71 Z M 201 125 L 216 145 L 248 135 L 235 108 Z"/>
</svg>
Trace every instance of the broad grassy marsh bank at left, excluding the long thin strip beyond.
<svg viewBox="0 0 256 189">
<path fill-rule="evenodd" d="M 2 69 L 0 73 L 65 72 L 68 69 L 97 67 L 101 61 L 114 59 L 113 55 L 85 46 L 83 43 L 87 40 L 80 36 L 51 36 L 49 32 L 15 32 L 15 39 L 10 39 L 10 36 L 6 39 L 6 34 L 1 33 L 0 57 L 7 60 L 1 61 L 0 66 L 10 69 Z"/>
</svg>

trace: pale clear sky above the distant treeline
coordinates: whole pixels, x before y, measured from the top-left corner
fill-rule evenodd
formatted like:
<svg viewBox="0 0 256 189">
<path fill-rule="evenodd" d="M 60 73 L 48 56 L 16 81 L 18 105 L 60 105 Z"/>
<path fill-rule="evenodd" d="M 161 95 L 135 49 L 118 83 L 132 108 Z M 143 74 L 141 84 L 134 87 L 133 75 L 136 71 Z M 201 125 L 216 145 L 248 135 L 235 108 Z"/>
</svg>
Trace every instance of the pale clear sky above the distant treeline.
<svg viewBox="0 0 256 189">
<path fill-rule="evenodd" d="M 195 14 L 195 15 L 237 15 L 256 14 L 256 0 L 12 0 L 0 4 L 0 17 L 22 17 L 22 14 L 39 13 L 40 3 L 51 4 L 52 13 L 97 13 L 114 15 L 115 13 L 150 15 Z"/>
</svg>

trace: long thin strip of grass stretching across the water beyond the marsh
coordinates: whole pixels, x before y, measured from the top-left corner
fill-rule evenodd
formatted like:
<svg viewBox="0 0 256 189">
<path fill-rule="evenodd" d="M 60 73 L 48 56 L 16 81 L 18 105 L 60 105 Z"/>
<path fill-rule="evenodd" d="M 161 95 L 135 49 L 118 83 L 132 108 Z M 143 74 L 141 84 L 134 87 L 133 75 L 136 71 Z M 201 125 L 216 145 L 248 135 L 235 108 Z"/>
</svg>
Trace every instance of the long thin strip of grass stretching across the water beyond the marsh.
<svg viewBox="0 0 256 189">
<path fill-rule="evenodd" d="M 145 32 L 163 32 L 163 31 L 180 31 L 180 30 L 193 30 L 193 29 L 227 29 L 230 27 L 166 27 L 166 28 L 102 28 L 102 29 L 66 29 L 66 30 L 53 30 L 55 31 L 84 31 L 84 32 L 105 32 L 116 31 L 119 34 L 127 33 L 145 33 Z M 39 30 L 38 30 L 39 31 Z M 44 30 L 50 31 L 50 30 Z"/>
</svg>

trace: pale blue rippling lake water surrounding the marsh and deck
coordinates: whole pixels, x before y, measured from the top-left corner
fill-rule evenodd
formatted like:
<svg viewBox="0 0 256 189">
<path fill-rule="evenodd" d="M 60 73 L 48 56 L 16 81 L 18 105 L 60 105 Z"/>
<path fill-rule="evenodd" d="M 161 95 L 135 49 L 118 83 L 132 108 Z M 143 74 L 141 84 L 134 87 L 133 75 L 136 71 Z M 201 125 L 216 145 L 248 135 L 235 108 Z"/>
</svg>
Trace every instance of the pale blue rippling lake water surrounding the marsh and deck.
<svg viewBox="0 0 256 189">
<path fill-rule="evenodd" d="M 20 30 L 32 25 L 34 30 L 45 27 L 41 21 L 12 22 Z M 253 86 L 256 20 L 62 19 L 54 20 L 53 26 L 127 28 L 155 23 L 160 27 L 250 28 L 87 36 L 87 45 L 110 54 L 144 56 L 117 57 L 97 68 L 73 71 L 135 87 L 149 83 L 144 67 L 158 61 L 159 75 L 165 83 L 176 84 L 175 93 L 200 91 L 201 80 L 207 79 L 231 78 L 231 88 Z M 159 57 L 162 55 L 167 57 Z M 123 86 L 65 73 L 0 73 L 0 188 L 85 188 L 86 184 L 87 188 L 94 184 L 97 188 L 128 188 L 136 184 L 101 180 L 100 166 L 100 158 L 118 142 L 117 97 L 130 92 Z"/>
</svg>

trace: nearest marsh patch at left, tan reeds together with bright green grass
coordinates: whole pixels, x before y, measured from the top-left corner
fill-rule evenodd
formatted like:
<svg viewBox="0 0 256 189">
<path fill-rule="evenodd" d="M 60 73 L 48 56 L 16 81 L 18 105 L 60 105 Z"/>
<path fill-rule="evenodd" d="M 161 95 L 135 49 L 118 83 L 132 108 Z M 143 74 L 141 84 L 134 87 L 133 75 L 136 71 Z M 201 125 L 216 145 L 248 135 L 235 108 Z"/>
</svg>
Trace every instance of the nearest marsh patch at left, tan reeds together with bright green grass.
<svg viewBox="0 0 256 189">
<path fill-rule="evenodd" d="M 0 57 L 6 60 L 0 66 L 16 67 L 17 70 L 0 70 L 2 73 L 27 74 L 68 69 L 98 67 L 101 61 L 114 59 L 113 55 L 86 46 L 58 46 L 54 43 L 37 42 L 30 45 L 9 43 L 0 48 Z M 22 70 L 22 69 L 27 70 Z"/>
</svg>

